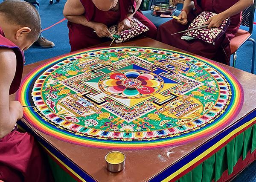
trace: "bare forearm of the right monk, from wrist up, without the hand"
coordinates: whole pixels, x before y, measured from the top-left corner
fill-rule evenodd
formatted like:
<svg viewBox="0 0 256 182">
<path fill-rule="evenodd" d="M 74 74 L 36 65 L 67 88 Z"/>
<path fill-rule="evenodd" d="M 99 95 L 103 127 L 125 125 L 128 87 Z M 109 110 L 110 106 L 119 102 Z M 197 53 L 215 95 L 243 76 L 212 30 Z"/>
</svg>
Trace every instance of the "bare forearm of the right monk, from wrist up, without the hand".
<svg viewBox="0 0 256 182">
<path fill-rule="evenodd" d="M 229 9 L 227 9 L 226 11 L 224 11 L 220 14 L 222 14 L 222 16 L 225 20 L 228 17 L 232 17 L 236 14 L 241 13 L 244 9 L 246 9 L 253 3 L 254 3 L 254 0 L 239 0 L 236 4 L 234 4 Z"/>
</svg>

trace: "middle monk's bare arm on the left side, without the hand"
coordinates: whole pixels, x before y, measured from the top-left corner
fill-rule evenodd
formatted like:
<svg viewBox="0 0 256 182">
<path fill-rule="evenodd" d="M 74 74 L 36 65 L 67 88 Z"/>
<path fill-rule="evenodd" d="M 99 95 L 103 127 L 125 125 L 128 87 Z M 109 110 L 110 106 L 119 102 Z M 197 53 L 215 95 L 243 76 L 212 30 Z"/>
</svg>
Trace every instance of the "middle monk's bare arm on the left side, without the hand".
<svg viewBox="0 0 256 182">
<path fill-rule="evenodd" d="M 84 13 L 85 10 L 80 0 L 67 0 L 63 10 L 64 17 L 72 23 L 81 24 L 93 29 L 95 23 L 88 21 Z"/>
</svg>

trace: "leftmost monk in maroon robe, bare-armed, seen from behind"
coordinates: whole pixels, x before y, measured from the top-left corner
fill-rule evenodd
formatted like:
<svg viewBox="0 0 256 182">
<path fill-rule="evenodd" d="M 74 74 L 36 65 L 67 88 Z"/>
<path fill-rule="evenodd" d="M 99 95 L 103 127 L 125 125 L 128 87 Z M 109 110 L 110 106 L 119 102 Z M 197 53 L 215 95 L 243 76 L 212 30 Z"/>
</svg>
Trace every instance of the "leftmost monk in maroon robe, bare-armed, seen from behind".
<svg viewBox="0 0 256 182">
<path fill-rule="evenodd" d="M 0 181 L 48 182 L 50 173 L 34 138 L 14 129 L 23 116 L 18 101 L 9 101 L 15 93 L 23 72 L 23 51 L 41 32 L 36 9 L 23 1 L 0 4 Z"/>
</svg>

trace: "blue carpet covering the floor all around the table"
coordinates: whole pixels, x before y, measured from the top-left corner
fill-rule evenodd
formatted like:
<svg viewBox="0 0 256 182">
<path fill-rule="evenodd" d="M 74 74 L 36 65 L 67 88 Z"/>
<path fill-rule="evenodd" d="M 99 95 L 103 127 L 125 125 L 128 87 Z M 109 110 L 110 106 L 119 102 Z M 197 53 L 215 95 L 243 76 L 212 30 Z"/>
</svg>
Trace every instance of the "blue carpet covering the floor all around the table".
<svg viewBox="0 0 256 182">
<path fill-rule="evenodd" d="M 59 3 L 54 3 L 53 5 L 50 5 L 48 0 L 39 0 L 39 2 L 43 29 L 63 19 L 62 11 L 66 0 L 60 0 Z M 55 43 L 55 47 L 50 49 L 43 49 L 38 46 L 32 46 L 25 52 L 26 64 L 31 64 L 70 52 L 67 21 L 64 21 L 52 27 L 51 29 L 44 31 L 43 35 L 48 40 L 53 41 Z M 256 39 L 255 26 L 252 38 Z M 244 43 L 244 45 L 241 46 L 241 48 L 238 50 L 237 55 L 238 58 L 236 67 L 250 72 L 252 43 Z M 233 182 L 241 181 L 256 182 L 256 162 L 253 162 L 247 169 L 245 169 L 233 180 Z"/>
</svg>

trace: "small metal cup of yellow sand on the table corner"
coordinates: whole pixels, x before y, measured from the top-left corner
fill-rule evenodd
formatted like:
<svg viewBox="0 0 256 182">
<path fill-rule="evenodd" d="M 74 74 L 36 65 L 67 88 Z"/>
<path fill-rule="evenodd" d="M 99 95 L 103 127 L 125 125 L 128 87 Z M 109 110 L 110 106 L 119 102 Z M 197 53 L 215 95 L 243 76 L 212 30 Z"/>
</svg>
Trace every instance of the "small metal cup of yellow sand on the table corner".
<svg viewBox="0 0 256 182">
<path fill-rule="evenodd" d="M 125 167 L 125 154 L 122 152 L 112 151 L 105 156 L 105 160 L 106 167 L 111 172 L 119 172 Z"/>
</svg>

